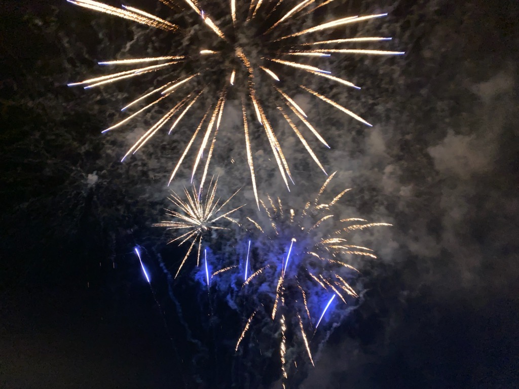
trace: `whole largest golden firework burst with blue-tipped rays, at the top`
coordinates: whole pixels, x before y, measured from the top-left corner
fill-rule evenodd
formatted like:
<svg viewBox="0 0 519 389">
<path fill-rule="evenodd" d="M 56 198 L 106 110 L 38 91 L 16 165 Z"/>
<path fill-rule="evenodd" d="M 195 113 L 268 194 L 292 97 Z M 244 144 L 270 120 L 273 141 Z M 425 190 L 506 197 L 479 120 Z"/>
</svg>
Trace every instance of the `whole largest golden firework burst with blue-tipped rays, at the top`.
<svg viewBox="0 0 519 389">
<path fill-rule="evenodd" d="M 329 147 L 307 119 L 304 110 L 289 95 L 287 88 L 283 90 L 282 86 L 299 85 L 302 91 L 331 104 L 363 124 L 371 126 L 359 115 L 354 114 L 329 97 L 301 85 L 304 82 L 303 76 L 304 74 L 310 74 L 336 82 L 341 87 L 360 89 L 352 82 L 333 76 L 330 71 L 314 66 L 314 60 L 330 55 L 344 54 L 403 54 L 399 51 L 372 48 L 351 48 L 348 46 L 337 48 L 337 45 L 378 43 L 389 40 L 390 38 L 387 37 L 365 36 L 322 40 L 323 36 L 334 33 L 338 27 L 384 17 L 387 15 L 386 13 L 349 16 L 330 22 L 316 22 L 316 25 L 311 27 L 305 25 L 303 28 L 303 22 L 309 20 L 308 15 L 333 0 L 322 3 L 315 0 L 304 0 L 294 4 L 262 0 L 250 2 L 250 4 L 237 4 L 236 0 L 230 0 L 229 3 L 221 4 L 226 4 L 225 7 L 208 10 L 203 10 L 202 4 L 195 0 L 177 0 L 176 2 L 160 0 L 162 4 L 168 6 L 171 10 L 176 10 L 176 12 L 182 9 L 183 4 L 188 6 L 187 9 L 181 11 L 182 15 L 180 16 L 185 17 L 184 24 L 188 23 L 182 26 L 134 7 L 122 6 L 119 9 L 92 0 L 67 1 L 80 7 L 107 13 L 171 33 L 174 39 L 179 41 L 179 45 L 176 46 L 182 52 L 161 53 L 156 57 L 102 61 L 99 64 L 131 68 L 130 70 L 69 84 L 71 86 L 83 86 L 87 89 L 143 75 L 154 76 L 149 83 L 148 90 L 122 108 L 126 111 L 131 107 L 135 111 L 103 131 L 114 130 L 155 106 L 166 107 L 166 113 L 130 147 L 123 160 L 143 147 L 166 124 L 172 122 L 169 129 L 169 133 L 171 133 L 181 119 L 189 113 L 190 117 L 199 116 L 201 120 L 199 120 L 198 128 L 185 146 L 183 154 L 173 169 L 169 183 L 175 177 L 180 165 L 189 155 L 189 151 L 195 143 L 198 144 L 198 151 L 194 152 L 196 157 L 193 164 L 192 180 L 205 155 L 206 164 L 201 179 L 201 182 L 204 182 L 215 148 L 225 103 L 228 100 L 241 100 L 244 145 L 258 208 L 260 207 L 260 201 L 254 172 L 252 136 L 257 138 L 256 135 L 264 133 L 285 185 L 289 187 L 289 182 L 293 182 L 288 162 L 274 131 L 274 126 L 271 124 L 274 120 L 272 118 L 273 113 L 281 112 L 280 118 L 289 124 L 311 159 L 323 171 L 323 165 L 300 128 L 307 128 L 311 132 L 311 136 L 315 136 L 323 145 Z M 190 18 L 189 12 L 195 12 L 198 15 L 198 24 L 200 24 L 201 29 L 197 30 L 192 24 L 193 19 Z M 215 18 L 210 17 L 211 12 Z M 176 13 L 172 16 L 175 17 L 175 20 L 179 19 L 179 15 L 176 15 Z M 182 24 L 180 19 L 178 23 Z M 205 35 L 194 38 L 193 36 L 196 34 L 193 34 L 193 31 L 195 30 L 201 31 L 200 34 Z M 204 33 L 204 30 L 210 35 Z M 304 39 L 301 37 L 304 37 Z M 183 45 L 180 44 L 182 41 L 184 42 Z M 198 49 L 193 51 L 193 47 Z M 156 87 L 156 85 L 160 86 Z M 137 108 L 138 106 L 142 107 Z M 287 112 L 284 110 L 286 108 L 288 108 Z M 204 115 L 201 114 L 203 112 L 205 112 Z M 253 123 L 251 117 L 255 117 L 258 123 Z"/>
</svg>

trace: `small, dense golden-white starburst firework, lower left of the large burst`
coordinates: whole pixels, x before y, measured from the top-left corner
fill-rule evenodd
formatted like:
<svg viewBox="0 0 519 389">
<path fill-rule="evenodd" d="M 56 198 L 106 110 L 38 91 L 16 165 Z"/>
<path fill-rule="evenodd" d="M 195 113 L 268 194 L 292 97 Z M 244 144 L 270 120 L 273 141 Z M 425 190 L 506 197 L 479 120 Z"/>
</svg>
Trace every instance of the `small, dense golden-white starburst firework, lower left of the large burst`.
<svg viewBox="0 0 519 389">
<path fill-rule="evenodd" d="M 233 193 L 231 197 L 225 200 L 220 205 L 220 198 L 216 198 L 216 189 L 218 186 L 218 179 L 211 179 L 207 193 L 202 196 L 195 186 L 189 192 L 184 188 L 184 199 L 182 199 L 175 192 L 171 192 L 169 200 L 175 205 L 175 209 L 167 209 L 166 212 L 173 220 L 164 220 L 160 223 L 154 224 L 156 227 L 166 227 L 168 230 L 178 230 L 181 234 L 168 242 L 179 242 L 179 246 L 191 241 L 189 249 L 182 259 L 179 269 L 176 271 L 175 278 L 179 275 L 180 270 L 184 266 L 189 254 L 193 251 L 195 244 L 198 245 L 197 266 L 200 264 L 200 248 L 202 246 L 202 237 L 204 232 L 209 230 L 225 230 L 225 227 L 216 226 L 218 220 L 226 219 L 231 223 L 238 224 L 238 221 L 231 218 L 229 215 L 239 210 L 243 205 L 240 205 L 230 211 L 223 211 L 229 201 L 238 193 L 239 189 Z M 209 286 L 209 272 L 207 268 L 207 251 L 205 253 L 205 268 L 207 276 L 207 284 Z"/>
</svg>

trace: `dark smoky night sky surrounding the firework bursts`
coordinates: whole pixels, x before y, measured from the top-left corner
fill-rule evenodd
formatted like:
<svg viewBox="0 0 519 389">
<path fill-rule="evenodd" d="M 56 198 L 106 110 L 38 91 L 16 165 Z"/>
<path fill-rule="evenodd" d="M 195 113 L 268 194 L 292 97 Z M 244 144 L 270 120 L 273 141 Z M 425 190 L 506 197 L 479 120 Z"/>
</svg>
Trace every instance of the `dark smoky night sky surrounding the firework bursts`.
<svg viewBox="0 0 519 389">
<path fill-rule="evenodd" d="M 154 0 L 129 4 L 200 24 Z M 274 327 L 260 323 L 262 345 L 248 339 L 235 353 L 247 317 L 231 307 L 230 291 L 227 300 L 221 288 L 208 295 L 193 261 L 173 281 L 187 247 L 167 245 L 171 233 L 152 227 L 166 217 L 167 181 L 196 115 L 121 163 L 163 113 L 100 132 L 154 76 L 66 86 L 104 74 L 101 60 L 212 41 L 200 27 L 179 39 L 65 0 L 3 0 L 0 9 L 0 387 L 280 388 Z M 344 36 L 391 36 L 375 48 L 405 55 L 325 62 L 362 90 L 282 76 L 301 77 L 374 124 L 308 98 L 299 81 L 283 84 L 332 146 L 312 140 L 326 171 L 338 172 L 333 189 L 352 188 L 339 216 L 393 225 L 355 235 L 378 256 L 352 259 L 361 298 L 352 309 L 337 304 L 312 343 L 315 368 L 292 369 L 288 387 L 519 387 L 519 3 L 335 0 L 316 20 L 378 12 L 389 15 Z M 220 76 L 215 68 L 199 82 L 214 88 Z M 230 100 L 210 173 L 220 175 L 223 198 L 242 187 L 235 206 L 256 215 L 241 113 Z M 285 127 L 292 191 L 270 149 L 255 150 L 255 166 L 264 195 L 300 209 L 325 176 Z M 190 163 L 170 189 L 189 184 Z M 236 231 L 213 234 L 215 252 L 239 256 L 230 247 L 245 234 Z"/>
</svg>

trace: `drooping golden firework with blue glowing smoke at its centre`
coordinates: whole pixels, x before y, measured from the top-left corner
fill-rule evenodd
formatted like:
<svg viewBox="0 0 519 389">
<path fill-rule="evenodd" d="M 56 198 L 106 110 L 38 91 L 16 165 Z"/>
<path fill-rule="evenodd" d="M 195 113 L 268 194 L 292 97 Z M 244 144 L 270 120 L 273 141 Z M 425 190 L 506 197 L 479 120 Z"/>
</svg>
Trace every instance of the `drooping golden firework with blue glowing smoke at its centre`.
<svg viewBox="0 0 519 389">
<path fill-rule="evenodd" d="M 336 297 L 344 304 L 358 298 L 348 281 L 357 270 L 349 265 L 347 258 L 376 258 L 372 249 L 351 244 L 347 235 L 365 228 L 390 226 L 387 223 L 368 223 L 357 217 L 340 219 L 334 215 L 333 206 L 349 190 L 341 191 L 330 201 L 321 201 L 334 175 L 330 175 L 317 197 L 307 202 L 301 212 L 285 209 L 279 198 L 274 201 L 268 197 L 268 205 L 260 200 L 264 212 L 259 217 L 263 215 L 263 220 L 249 218 L 251 228 L 259 232 L 255 246 L 260 260 L 255 265 L 261 268 L 243 286 L 253 284 L 252 289 L 248 286 L 247 293 L 254 299 L 261 299 L 265 309 L 270 307 L 269 311 L 263 313 L 270 316 L 281 329 L 279 352 L 284 379 L 289 365 L 286 354 L 289 344 L 285 337 L 288 328 L 298 334 L 296 338 L 301 341 L 313 365 L 311 338 L 308 334 L 312 334 L 312 331 L 316 334 Z M 253 279 L 257 282 L 252 282 Z M 267 292 L 265 285 L 271 285 Z M 323 309 L 324 301 L 327 303 Z M 252 328 L 251 322 L 258 314 L 259 309 L 256 309 L 249 317 L 236 349 Z"/>
</svg>

